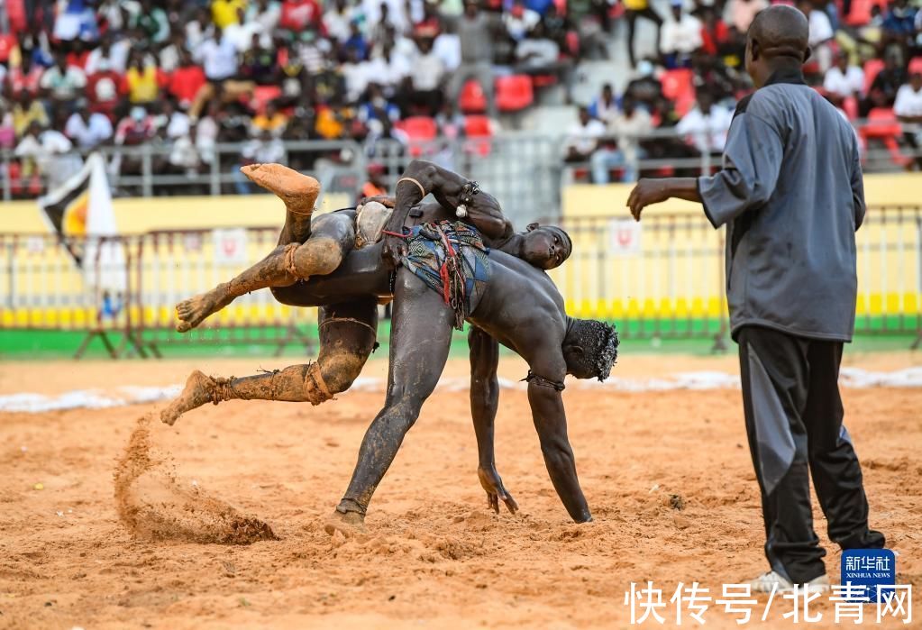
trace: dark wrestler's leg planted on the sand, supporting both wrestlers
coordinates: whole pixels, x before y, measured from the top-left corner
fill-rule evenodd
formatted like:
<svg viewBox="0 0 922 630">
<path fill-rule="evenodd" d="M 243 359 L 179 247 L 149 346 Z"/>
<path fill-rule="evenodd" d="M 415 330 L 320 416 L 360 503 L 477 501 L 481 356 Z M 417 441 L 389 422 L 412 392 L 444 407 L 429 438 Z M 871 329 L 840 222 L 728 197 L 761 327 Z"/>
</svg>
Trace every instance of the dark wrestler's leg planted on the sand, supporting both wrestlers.
<svg viewBox="0 0 922 630">
<path fill-rule="evenodd" d="M 349 535 L 363 528 L 375 488 L 439 382 L 454 322 L 455 313 L 441 295 L 406 269 L 397 272 L 387 398 L 365 433 L 349 489 L 327 521 L 327 533 Z"/>
</svg>

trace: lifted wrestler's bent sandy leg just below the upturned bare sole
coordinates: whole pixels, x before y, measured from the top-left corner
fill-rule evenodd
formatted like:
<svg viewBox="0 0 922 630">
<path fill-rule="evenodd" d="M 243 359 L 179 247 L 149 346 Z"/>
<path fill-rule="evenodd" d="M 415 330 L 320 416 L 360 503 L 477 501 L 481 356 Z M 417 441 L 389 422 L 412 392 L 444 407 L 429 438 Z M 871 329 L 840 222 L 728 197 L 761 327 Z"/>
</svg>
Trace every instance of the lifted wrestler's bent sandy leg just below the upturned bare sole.
<svg viewBox="0 0 922 630">
<path fill-rule="evenodd" d="M 304 244 L 278 245 L 269 256 L 230 282 L 176 304 L 180 319 L 176 330 L 185 332 L 198 326 L 208 315 L 251 291 L 290 287 L 299 279 L 332 273 L 355 246 L 355 226 L 345 213 L 317 217 L 310 236 Z"/>
</svg>

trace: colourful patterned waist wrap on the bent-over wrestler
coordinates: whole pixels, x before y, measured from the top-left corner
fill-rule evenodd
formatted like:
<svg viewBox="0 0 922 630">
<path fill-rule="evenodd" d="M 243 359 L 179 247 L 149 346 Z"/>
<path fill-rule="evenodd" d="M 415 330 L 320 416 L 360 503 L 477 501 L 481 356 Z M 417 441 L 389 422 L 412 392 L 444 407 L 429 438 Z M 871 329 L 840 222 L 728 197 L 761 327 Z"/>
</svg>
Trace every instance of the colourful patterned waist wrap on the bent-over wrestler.
<svg viewBox="0 0 922 630">
<path fill-rule="evenodd" d="M 489 248 L 480 233 L 461 221 L 443 220 L 410 228 L 403 266 L 443 297 L 460 330 L 490 279 Z"/>
</svg>

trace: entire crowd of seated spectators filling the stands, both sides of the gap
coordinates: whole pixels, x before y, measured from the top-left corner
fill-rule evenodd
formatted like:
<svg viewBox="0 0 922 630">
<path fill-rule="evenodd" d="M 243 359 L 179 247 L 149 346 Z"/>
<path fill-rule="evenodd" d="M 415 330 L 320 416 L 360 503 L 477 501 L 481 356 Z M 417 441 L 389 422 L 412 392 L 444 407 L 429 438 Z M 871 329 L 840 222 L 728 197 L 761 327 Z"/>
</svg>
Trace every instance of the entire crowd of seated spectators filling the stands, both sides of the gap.
<svg viewBox="0 0 922 630">
<path fill-rule="evenodd" d="M 79 168 L 74 149 L 105 145 L 157 147 L 158 173 L 203 173 L 215 160 L 224 171 L 282 159 L 305 169 L 317 156 L 287 154 L 282 141 L 406 141 L 400 121 L 417 115 L 456 135 L 468 80 L 491 117 L 502 74 L 551 77 L 569 100 L 574 66 L 618 54 L 609 33 L 624 21 L 632 79 L 579 109 L 562 157 L 598 183 L 612 172 L 631 181 L 638 159 L 723 149 L 751 89 L 745 32 L 768 2 L 670 0 L 660 15 L 649 0 L 6 0 L 0 149 L 16 160 L 5 174 L 14 192 L 34 194 L 40 175 L 53 187 Z M 807 76 L 849 117 L 893 111 L 915 146 L 922 11 L 876 2 L 798 0 L 810 19 Z M 656 53 L 639 61 L 638 18 L 657 30 Z M 661 127 L 680 139 L 644 139 Z M 219 154 L 225 142 L 242 149 Z M 144 164 L 128 150 L 110 168 Z"/>
</svg>

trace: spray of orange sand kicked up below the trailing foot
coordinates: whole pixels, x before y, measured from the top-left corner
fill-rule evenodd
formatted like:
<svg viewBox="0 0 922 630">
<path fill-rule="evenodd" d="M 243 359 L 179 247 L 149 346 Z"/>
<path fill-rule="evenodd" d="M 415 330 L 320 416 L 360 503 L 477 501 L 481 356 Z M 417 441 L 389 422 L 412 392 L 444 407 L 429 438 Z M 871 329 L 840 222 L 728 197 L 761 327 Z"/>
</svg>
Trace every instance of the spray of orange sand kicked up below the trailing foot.
<svg viewBox="0 0 922 630">
<path fill-rule="evenodd" d="M 125 527 L 152 540 L 250 544 L 277 540 L 266 523 L 181 481 L 151 444 L 150 416 L 139 418 L 115 468 L 115 504 Z"/>
</svg>

